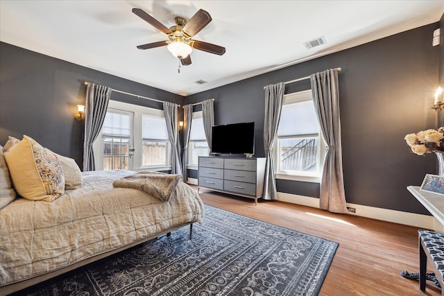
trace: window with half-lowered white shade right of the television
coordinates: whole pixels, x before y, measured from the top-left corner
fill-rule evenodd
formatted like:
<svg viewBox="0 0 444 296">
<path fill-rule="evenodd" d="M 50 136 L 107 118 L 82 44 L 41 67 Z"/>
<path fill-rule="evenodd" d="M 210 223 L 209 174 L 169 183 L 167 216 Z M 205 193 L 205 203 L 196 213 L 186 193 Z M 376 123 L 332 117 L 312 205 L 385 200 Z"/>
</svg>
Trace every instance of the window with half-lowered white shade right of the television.
<svg viewBox="0 0 444 296">
<path fill-rule="evenodd" d="M 311 90 L 284 96 L 275 142 L 276 172 L 318 177 L 323 153 L 319 143 L 319 124 Z"/>
</svg>

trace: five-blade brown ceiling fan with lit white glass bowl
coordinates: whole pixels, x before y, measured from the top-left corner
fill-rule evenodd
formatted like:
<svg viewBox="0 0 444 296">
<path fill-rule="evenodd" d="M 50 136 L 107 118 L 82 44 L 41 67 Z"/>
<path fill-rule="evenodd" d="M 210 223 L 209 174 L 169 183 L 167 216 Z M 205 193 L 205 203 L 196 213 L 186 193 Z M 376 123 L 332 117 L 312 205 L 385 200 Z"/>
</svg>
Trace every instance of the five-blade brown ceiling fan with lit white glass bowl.
<svg viewBox="0 0 444 296">
<path fill-rule="evenodd" d="M 189 54 L 192 49 L 198 49 L 199 51 L 206 51 L 207 53 L 214 53 L 216 55 L 223 55 L 225 53 L 225 47 L 191 39 L 212 21 L 210 13 L 203 9 L 196 12 L 189 21 L 183 17 L 175 17 L 174 22 L 176 26 L 171 26 L 171 28 L 167 28 L 161 24 L 160 21 L 157 21 L 157 19 L 151 17 L 151 15 L 148 15 L 148 13 L 140 8 L 133 8 L 133 13 L 169 37 L 169 40 L 139 45 L 137 49 L 153 49 L 159 46 L 168 46 L 168 50 L 174 57 L 179 58 L 180 63 L 184 66 L 191 64 Z"/>
</svg>

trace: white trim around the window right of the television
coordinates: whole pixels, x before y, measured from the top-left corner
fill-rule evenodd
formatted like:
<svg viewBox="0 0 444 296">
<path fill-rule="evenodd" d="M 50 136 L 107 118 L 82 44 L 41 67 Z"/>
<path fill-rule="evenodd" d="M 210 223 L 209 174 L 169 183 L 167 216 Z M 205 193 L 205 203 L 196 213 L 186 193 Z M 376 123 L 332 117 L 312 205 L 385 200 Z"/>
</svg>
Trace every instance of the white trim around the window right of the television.
<svg viewBox="0 0 444 296">
<path fill-rule="evenodd" d="M 284 102 L 289 103 L 297 103 L 302 101 L 308 101 L 306 99 L 298 99 L 296 98 L 296 94 L 311 94 L 311 89 L 302 91 L 302 92 L 296 92 L 291 94 L 285 94 L 284 95 Z M 280 171 L 280 153 L 278 149 L 278 137 L 276 136 L 275 142 L 273 143 L 273 157 L 275 159 L 275 179 L 279 180 L 292 180 L 292 181 L 302 181 L 302 182 L 314 182 L 314 183 L 320 183 L 321 182 L 321 173 L 323 171 L 323 159 L 325 157 L 325 151 L 327 150 L 325 147 L 325 141 L 322 137 L 321 130 L 318 132 L 318 172 L 316 173 L 302 173 L 298 172 L 295 173 L 289 173 Z"/>
</svg>

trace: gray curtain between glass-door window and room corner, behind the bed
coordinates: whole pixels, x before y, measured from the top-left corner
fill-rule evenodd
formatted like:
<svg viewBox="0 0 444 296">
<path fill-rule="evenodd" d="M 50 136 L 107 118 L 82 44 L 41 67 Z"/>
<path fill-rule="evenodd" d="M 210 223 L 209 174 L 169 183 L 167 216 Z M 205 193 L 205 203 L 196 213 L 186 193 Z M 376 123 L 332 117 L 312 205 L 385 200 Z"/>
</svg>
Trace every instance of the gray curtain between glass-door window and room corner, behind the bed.
<svg viewBox="0 0 444 296">
<path fill-rule="evenodd" d="M 179 153 L 178 105 L 164 102 L 165 121 L 167 121 L 168 139 L 171 143 L 171 173 L 182 175 L 182 162 Z"/>
</svg>

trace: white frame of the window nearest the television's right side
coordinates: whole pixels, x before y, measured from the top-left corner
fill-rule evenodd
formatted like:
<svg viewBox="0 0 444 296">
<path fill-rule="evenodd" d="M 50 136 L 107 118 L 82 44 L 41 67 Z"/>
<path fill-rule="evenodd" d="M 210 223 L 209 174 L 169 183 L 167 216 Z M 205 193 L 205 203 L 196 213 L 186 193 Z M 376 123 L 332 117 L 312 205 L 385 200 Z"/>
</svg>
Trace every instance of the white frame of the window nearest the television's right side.
<svg viewBox="0 0 444 296">
<path fill-rule="evenodd" d="M 309 96 L 309 98 L 308 98 Z M 299 97 L 299 98 L 298 98 Z M 294 92 L 291 94 L 284 95 L 284 105 L 290 103 L 298 103 L 304 101 L 312 101 L 311 89 Z M 318 137 L 318 151 L 317 151 L 317 159 L 316 172 L 302 172 L 302 171 L 281 171 L 280 169 L 280 139 L 293 139 L 293 138 L 309 138 L 309 137 Z M 273 143 L 273 157 L 275 159 L 275 178 L 280 180 L 294 180 L 294 181 L 302 181 L 302 182 L 321 182 L 321 174 L 323 171 L 323 159 L 325 157 L 325 141 L 323 140 L 321 134 L 321 128 L 318 128 L 318 134 L 295 134 L 290 136 L 276 136 L 275 142 Z"/>
</svg>

